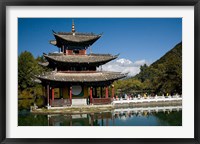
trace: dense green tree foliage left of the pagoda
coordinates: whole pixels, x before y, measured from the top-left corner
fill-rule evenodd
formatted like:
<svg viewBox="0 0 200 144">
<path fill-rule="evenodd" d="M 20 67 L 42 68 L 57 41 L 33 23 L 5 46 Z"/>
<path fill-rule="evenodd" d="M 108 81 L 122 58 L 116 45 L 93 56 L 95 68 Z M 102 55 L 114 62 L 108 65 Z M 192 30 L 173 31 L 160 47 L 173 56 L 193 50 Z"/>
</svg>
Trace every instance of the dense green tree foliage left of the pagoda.
<svg viewBox="0 0 200 144">
<path fill-rule="evenodd" d="M 35 82 L 36 75 L 49 71 L 38 64 L 45 62 L 43 57 L 36 59 L 30 52 L 24 51 L 18 56 L 18 108 L 28 109 L 33 103 L 44 104 L 42 86 Z"/>
</svg>

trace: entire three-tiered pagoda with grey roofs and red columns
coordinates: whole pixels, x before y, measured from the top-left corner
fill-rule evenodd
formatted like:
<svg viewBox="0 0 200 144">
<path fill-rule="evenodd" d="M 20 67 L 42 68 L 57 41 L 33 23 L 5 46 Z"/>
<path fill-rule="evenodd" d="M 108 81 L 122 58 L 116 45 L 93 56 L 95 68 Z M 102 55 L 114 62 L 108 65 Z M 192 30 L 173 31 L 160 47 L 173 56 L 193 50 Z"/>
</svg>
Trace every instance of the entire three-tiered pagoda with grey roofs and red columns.
<svg viewBox="0 0 200 144">
<path fill-rule="evenodd" d="M 96 71 L 97 67 L 117 58 L 110 54 L 86 54 L 86 49 L 101 35 L 77 33 L 74 23 L 71 32 L 53 34 L 56 40 L 50 43 L 57 46 L 60 52 L 44 54 L 48 62 L 42 65 L 54 71 L 38 76 L 45 87 L 48 106 L 111 103 L 114 96 L 114 86 L 111 84 L 126 75 Z M 111 96 L 109 86 L 112 87 Z M 59 89 L 59 98 L 55 98 L 55 88 Z"/>
</svg>

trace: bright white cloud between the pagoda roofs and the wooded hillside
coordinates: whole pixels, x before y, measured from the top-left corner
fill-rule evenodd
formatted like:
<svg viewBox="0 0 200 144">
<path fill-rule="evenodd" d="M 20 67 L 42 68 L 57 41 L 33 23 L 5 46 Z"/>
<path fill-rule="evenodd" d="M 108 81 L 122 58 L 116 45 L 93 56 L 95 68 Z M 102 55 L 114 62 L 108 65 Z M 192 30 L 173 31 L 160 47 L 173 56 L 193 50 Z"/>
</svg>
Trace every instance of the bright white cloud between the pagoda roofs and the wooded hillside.
<svg viewBox="0 0 200 144">
<path fill-rule="evenodd" d="M 121 72 L 121 73 L 128 73 L 128 76 L 135 76 L 140 72 L 140 66 L 148 64 L 145 60 L 138 60 L 135 62 L 132 62 L 128 59 L 118 59 L 111 61 L 105 65 L 102 66 L 103 71 L 114 71 L 114 72 Z M 98 70 L 101 70 L 101 67 L 98 68 Z"/>
</svg>

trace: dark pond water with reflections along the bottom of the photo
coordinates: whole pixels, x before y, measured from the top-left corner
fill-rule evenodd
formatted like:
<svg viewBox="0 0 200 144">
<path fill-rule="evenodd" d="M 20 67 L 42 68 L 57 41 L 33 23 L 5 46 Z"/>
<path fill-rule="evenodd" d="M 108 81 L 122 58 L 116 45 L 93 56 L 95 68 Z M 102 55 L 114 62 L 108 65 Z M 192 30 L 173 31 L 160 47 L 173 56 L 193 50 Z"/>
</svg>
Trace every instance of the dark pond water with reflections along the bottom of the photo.
<svg viewBox="0 0 200 144">
<path fill-rule="evenodd" d="M 36 115 L 26 110 L 18 114 L 19 126 L 182 126 L 182 110 L 116 109 L 81 115 Z"/>
</svg>

